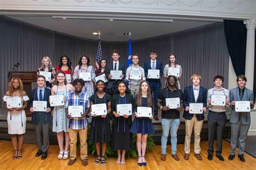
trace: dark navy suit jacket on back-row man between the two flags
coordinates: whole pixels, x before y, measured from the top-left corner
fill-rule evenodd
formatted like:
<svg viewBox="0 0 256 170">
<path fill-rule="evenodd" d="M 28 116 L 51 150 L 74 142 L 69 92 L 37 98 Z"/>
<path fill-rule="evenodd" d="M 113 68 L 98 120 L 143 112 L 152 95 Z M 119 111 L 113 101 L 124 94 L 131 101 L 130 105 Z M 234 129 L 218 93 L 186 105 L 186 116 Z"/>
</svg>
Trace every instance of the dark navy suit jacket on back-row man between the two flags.
<svg viewBox="0 0 256 170">
<path fill-rule="evenodd" d="M 110 64 L 108 64 L 107 68 L 106 68 L 106 78 L 107 78 L 107 81 L 108 81 L 107 82 L 107 89 L 111 89 L 115 82 L 122 81 L 122 80 L 125 79 L 125 66 L 120 61 L 119 61 L 119 65 L 118 65 L 118 69 L 117 70 L 122 70 L 122 74 L 124 75 L 122 80 L 112 80 L 112 79 L 109 79 L 110 70 L 114 70 L 114 68 L 113 68 L 113 61 Z"/>
</svg>

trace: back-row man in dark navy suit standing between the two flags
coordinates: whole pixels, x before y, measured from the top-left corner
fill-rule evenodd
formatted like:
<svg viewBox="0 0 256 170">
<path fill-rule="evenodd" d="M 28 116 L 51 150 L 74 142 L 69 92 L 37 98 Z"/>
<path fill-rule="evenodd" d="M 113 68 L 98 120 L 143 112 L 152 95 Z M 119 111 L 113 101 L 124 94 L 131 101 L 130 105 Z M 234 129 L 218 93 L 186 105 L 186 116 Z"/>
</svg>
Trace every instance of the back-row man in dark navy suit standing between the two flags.
<svg viewBox="0 0 256 170">
<path fill-rule="evenodd" d="M 107 89 L 106 93 L 113 96 L 114 88 L 116 88 L 118 81 L 124 80 L 125 75 L 125 66 L 119 61 L 120 53 L 114 49 L 111 53 L 113 62 L 110 62 L 109 65 L 107 65 L 106 68 L 106 78 L 108 80 L 107 82 Z M 112 75 L 110 74 L 111 70 L 122 70 L 121 80 L 113 80 L 111 79 Z"/>
</svg>

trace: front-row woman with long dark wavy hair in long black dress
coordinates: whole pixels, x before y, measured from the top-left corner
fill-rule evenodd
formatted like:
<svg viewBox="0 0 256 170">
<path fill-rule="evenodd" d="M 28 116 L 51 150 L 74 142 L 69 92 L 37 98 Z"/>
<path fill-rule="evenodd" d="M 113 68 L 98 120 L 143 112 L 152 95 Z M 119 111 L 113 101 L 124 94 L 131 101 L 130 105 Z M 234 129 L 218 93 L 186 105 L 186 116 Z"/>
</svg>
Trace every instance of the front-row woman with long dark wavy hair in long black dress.
<svg viewBox="0 0 256 170">
<path fill-rule="evenodd" d="M 119 114 L 117 104 L 132 104 L 133 110 L 134 101 L 124 81 L 117 83 L 114 94 L 111 100 L 112 114 L 114 115 L 112 125 L 112 148 L 115 151 L 117 150 L 118 157 L 116 164 L 125 165 L 125 152 L 133 147 L 132 133 L 130 132 L 132 116 L 126 114 L 120 116 L 122 113 Z"/>
</svg>

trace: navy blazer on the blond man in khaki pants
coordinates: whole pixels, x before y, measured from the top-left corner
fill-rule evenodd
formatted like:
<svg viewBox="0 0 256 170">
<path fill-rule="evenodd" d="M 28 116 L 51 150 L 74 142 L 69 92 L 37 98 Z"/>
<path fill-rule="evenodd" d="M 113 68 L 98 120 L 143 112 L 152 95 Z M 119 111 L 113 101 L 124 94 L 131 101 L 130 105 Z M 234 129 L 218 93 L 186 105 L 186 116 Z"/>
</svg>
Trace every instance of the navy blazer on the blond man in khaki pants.
<svg viewBox="0 0 256 170">
<path fill-rule="evenodd" d="M 197 101 L 194 99 L 194 90 L 193 86 L 188 86 L 184 89 L 184 98 L 183 98 L 183 107 L 184 107 L 184 113 L 183 117 L 187 120 L 191 120 L 194 114 L 190 114 L 189 111 L 186 111 L 186 107 L 190 107 L 190 103 L 203 103 L 203 107 L 206 107 L 207 105 L 207 89 L 200 86 L 199 94 L 197 97 Z M 205 116 L 203 114 L 196 114 L 197 120 L 202 121 L 204 120 Z"/>
</svg>

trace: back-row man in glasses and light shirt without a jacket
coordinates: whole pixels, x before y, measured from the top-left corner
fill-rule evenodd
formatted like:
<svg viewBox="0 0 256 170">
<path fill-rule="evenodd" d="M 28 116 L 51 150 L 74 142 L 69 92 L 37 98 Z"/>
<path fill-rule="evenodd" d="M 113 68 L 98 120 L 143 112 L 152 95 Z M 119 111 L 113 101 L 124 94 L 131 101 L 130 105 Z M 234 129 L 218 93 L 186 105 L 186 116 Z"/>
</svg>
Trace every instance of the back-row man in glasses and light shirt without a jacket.
<svg viewBox="0 0 256 170">
<path fill-rule="evenodd" d="M 139 66 L 139 54 L 132 54 L 132 65 L 126 69 L 125 81 L 129 82 L 129 89 L 133 97 L 138 94 L 139 85 L 146 80 L 144 69 Z"/>
</svg>

